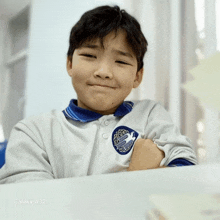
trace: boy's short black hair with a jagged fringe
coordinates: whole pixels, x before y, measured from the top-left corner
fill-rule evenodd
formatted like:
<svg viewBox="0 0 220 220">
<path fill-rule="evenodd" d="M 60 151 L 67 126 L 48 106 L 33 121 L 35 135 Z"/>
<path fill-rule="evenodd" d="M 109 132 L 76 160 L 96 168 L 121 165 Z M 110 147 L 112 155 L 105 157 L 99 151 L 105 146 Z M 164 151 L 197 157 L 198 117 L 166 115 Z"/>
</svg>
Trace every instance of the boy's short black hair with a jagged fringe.
<svg viewBox="0 0 220 220">
<path fill-rule="evenodd" d="M 74 50 L 85 41 L 103 38 L 112 31 L 124 30 L 127 42 L 136 55 L 138 71 L 143 67 L 144 54 L 147 51 L 147 40 L 138 21 L 125 10 L 116 6 L 100 6 L 85 12 L 70 32 L 68 59 L 71 61 Z"/>
</svg>

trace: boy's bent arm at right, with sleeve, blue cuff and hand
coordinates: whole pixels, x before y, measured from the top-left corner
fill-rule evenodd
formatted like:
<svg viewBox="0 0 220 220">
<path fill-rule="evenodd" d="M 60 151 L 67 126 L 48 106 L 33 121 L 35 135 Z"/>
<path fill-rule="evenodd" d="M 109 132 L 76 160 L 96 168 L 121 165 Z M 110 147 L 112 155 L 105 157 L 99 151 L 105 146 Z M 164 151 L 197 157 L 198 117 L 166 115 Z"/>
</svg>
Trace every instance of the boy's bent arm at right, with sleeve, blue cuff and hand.
<svg viewBox="0 0 220 220">
<path fill-rule="evenodd" d="M 134 145 L 128 170 L 197 164 L 191 141 L 181 135 L 169 113 L 159 103 L 151 109 L 144 133 L 143 139 Z"/>
</svg>

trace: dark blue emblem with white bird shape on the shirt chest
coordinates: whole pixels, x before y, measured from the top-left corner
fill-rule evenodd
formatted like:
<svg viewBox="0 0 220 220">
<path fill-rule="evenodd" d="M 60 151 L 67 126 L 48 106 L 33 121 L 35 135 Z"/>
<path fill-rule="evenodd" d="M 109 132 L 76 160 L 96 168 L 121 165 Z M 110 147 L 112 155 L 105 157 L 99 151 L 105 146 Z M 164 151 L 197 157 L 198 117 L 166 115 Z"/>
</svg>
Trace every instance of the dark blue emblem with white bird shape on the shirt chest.
<svg viewBox="0 0 220 220">
<path fill-rule="evenodd" d="M 126 126 L 117 127 L 112 133 L 112 144 L 119 154 L 127 154 L 132 149 L 138 133 Z"/>
</svg>

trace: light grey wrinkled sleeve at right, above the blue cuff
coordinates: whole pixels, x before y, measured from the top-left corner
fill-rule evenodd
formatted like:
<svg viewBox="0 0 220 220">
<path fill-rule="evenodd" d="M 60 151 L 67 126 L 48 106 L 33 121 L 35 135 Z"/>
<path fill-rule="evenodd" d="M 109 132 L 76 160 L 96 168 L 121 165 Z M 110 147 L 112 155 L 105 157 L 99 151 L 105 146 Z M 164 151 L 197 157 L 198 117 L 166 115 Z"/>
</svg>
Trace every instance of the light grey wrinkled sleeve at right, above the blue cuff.
<svg viewBox="0 0 220 220">
<path fill-rule="evenodd" d="M 176 159 L 197 164 L 196 154 L 190 139 L 181 135 L 169 113 L 159 103 L 156 103 L 150 111 L 145 134 L 145 138 L 153 140 L 158 148 L 165 153 L 165 158 L 161 161 L 160 166 L 171 165 L 171 162 Z"/>
</svg>

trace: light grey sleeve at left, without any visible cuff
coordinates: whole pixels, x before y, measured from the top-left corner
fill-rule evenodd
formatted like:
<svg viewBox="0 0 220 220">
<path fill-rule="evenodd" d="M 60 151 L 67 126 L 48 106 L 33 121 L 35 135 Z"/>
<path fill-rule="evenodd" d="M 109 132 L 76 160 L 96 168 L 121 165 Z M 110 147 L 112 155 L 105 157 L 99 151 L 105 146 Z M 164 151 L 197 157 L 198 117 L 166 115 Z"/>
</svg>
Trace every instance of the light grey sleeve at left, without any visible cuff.
<svg viewBox="0 0 220 220">
<path fill-rule="evenodd" d="M 40 132 L 33 132 L 25 123 L 19 122 L 9 138 L 5 165 L 0 169 L 0 184 L 53 178 Z"/>
</svg>

